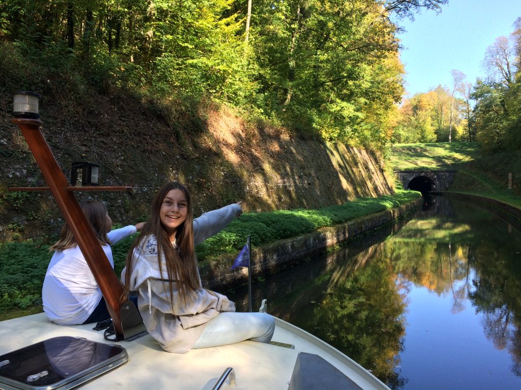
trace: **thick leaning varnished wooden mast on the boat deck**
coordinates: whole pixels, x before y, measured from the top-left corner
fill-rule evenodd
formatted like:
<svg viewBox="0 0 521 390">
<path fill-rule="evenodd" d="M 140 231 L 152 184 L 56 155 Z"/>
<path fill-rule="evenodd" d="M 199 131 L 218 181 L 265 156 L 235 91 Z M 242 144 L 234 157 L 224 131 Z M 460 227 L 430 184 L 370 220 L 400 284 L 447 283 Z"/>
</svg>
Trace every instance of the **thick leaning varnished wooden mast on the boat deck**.
<svg viewBox="0 0 521 390">
<path fill-rule="evenodd" d="M 42 122 L 34 119 L 11 119 L 11 123 L 18 125 L 25 137 L 36 163 L 42 171 L 58 206 L 69 228 L 85 257 L 94 279 L 100 286 L 101 292 L 107 302 L 107 309 L 114 321 L 114 328 L 119 334 L 123 334 L 119 318 L 121 306 L 120 297 L 123 292 L 113 268 L 111 267 L 100 242 L 96 239 L 94 231 L 85 218 L 81 207 L 72 191 L 68 190 L 69 183 L 61 171 L 51 148 L 40 131 Z"/>
</svg>

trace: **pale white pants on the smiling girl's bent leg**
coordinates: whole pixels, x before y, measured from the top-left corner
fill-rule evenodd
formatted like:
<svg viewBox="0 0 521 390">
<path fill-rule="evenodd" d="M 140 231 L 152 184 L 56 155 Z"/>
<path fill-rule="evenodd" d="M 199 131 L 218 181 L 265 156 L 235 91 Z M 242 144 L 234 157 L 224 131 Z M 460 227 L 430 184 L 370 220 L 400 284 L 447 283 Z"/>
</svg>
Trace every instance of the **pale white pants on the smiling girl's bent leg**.
<svg viewBox="0 0 521 390">
<path fill-rule="evenodd" d="M 269 314 L 225 311 L 208 321 L 192 348 L 216 347 L 249 339 L 269 343 L 274 331 L 275 320 Z"/>
</svg>

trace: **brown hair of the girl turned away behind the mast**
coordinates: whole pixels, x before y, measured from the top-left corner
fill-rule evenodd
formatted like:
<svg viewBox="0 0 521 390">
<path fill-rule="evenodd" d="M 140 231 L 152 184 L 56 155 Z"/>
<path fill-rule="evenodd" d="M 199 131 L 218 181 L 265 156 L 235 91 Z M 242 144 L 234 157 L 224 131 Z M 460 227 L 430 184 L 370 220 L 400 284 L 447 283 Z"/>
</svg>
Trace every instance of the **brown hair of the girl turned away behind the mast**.
<svg viewBox="0 0 521 390">
<path fill-rule="evenodd" d="M 85 201 L 80 202 L 81 210 L 87 218 L 89 225 L 94 230 L 94 235 L 100 243 L 110 245 L 110 240 L 107 237 L 107 207 L 100 201 Z M 49 248 L 49 252 L 63 251 L 64 249 L 73 248 L 76 246 L 76 239 L 72 235 L 67 222 L 61 227 L 59 240 Z"/>
</svg>

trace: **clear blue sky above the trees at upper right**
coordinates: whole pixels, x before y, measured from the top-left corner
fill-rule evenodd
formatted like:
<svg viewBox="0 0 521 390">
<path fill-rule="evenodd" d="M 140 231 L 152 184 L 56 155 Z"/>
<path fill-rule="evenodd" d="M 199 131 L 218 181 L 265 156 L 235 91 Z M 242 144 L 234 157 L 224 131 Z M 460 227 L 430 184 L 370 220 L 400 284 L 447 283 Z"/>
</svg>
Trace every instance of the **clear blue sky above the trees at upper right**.
<svg viewBox="0 0 521 390">
<path fill-rule="evenodd" d="M 521 0 L 449 0 L 438 15 L 422 10 L 414 21 L 399 21 L 407 30 L 399 35 L 406 97 L 438 84 L 450 86 L 452 69 L 465 73 L 473 84 L 476 77 L 485 77 L 481 61 L 487 47 L 512 33 L 517 17 Z"/>
</svg>

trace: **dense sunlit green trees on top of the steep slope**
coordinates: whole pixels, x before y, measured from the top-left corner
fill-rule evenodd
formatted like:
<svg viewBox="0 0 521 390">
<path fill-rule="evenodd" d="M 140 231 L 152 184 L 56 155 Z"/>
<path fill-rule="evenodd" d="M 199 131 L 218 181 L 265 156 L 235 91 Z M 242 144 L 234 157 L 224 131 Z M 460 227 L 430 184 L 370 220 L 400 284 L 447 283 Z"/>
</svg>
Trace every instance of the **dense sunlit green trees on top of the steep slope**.
<svg viewBox="0 0 521 390">
<path fill-rule="evenodd" d="M 403 92 L 393 20 L 446 1 L 258 0 L 246 41 L 245 1 L 5 0 L 0 52 L 47 96 L 88 84 L 178 110 L 209 99 L 378 148 Z"/>
</svg>

